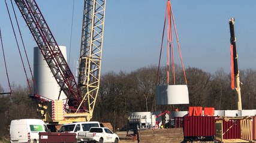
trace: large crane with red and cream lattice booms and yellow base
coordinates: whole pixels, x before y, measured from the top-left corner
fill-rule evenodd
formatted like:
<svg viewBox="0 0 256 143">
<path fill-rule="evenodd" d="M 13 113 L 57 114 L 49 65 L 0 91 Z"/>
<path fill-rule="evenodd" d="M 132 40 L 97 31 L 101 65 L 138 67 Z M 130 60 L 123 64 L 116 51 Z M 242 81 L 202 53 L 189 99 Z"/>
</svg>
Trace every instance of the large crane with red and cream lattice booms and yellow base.
<svg viewBox="0 0 256 143">
<path fill-rule="evenodd" d="M 92 118 L 100 86 L 101 48 L 104 30 L 104 0 L 85 0 L 82 42 L 80 50 L 79 84 L 59 49 L 58 43 L 35 0 L 15 0 L 41 54 L 52 71 L 61 91 L 67 96 L 63 120 L 52 120 L 52 102 L 41 95 L 33 95 L 41 102 L 46 122 L 79 122 Z M 43 111 L 42 111 L 43 110 Z"/>
</svg>

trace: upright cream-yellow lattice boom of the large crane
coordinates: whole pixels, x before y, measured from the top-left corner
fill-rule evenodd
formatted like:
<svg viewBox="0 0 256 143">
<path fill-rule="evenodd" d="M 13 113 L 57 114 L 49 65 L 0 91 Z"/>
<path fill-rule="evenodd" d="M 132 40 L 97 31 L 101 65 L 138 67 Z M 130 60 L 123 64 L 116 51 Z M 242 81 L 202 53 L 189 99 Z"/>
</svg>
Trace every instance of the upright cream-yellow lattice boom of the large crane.
<svg viewBox="0 0 256 143">
<path fill-rule="evenodd" d="M 105 0 L 84 0 L 83 28 L 79 59 L 79 86 L 92 117 L 100 88 Z"/>
</svg>

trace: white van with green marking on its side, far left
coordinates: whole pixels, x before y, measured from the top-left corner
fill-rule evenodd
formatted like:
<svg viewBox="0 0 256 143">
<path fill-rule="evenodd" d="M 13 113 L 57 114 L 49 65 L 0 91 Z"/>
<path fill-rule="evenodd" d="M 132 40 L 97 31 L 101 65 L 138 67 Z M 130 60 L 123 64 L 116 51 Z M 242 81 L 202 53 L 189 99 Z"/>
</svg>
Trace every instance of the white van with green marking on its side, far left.
<svg viewBox="0 0 256 143">
<path fill-rule="evenodd" d="M 10 142 L 39 142 L 39 132 L 48 128 L 40 119 L 12 120 L 10 125 Z"/>
</svg>

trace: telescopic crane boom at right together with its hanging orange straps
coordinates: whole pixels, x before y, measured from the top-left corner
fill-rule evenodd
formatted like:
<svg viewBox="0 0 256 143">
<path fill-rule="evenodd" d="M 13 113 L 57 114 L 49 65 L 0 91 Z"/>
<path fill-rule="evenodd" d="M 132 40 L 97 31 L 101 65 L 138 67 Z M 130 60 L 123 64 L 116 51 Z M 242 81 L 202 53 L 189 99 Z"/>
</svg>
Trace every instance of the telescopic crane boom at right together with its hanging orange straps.
<svg viewBox="0 0 256 143">
<path fill-rule="evenodd" d="M 238 70 L 238 56 L 236 52 L 236 36 L 234 34 L 234 18 L 229 19 L 230 24 L 230 54 L 231 54 L 231 89 L 237 92 L 237 109 L 242 110 L 240 77 Z M 234 77 L 236 77 L 236 88 L 234 87 Z"/>
</svg>

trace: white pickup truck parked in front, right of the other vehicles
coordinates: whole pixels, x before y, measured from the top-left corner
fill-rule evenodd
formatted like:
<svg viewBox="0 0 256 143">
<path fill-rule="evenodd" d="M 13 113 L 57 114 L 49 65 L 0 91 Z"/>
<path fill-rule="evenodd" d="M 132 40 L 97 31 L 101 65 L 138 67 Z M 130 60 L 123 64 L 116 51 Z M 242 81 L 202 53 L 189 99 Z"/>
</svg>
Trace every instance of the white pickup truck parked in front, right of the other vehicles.
<svg viewBox="0 0 256 143">
<path fill-rule="evenodd" d="M 79 132 L 77 136 L 78 142 L 119 142 L 119 137 L 109 128 L 92 127 L 89 132 Z"/>
</svg>

